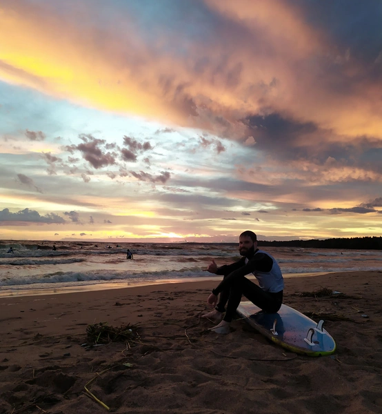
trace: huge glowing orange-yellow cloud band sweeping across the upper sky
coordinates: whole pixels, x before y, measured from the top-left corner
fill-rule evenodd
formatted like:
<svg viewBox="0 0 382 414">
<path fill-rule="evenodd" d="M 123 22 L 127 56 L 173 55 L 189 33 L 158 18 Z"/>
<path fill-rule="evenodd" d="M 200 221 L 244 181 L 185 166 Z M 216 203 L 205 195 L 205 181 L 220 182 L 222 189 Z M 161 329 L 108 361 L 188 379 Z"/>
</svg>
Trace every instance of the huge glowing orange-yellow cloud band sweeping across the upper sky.
<svg viewBox="0 0 382 414">
<path fill-rule="evenodd" d="M 145 41 L 127 13 L 115 28 L 97 27 L 102 11 L 95 19 L 88 2 L 61 15 L 52 5 L 4 3 L 0 79 L 230 137 L 245 137 L 245 117 L 276 111 L 333 130 L 326 139 L 382 138 L 382 86 L 354 81 L 363 65 L 310 28 L 301 10 L 283 0 L 205 3 L 223 18 L 205 42 L 174 39 L 160 28 Z"/>
</svg>

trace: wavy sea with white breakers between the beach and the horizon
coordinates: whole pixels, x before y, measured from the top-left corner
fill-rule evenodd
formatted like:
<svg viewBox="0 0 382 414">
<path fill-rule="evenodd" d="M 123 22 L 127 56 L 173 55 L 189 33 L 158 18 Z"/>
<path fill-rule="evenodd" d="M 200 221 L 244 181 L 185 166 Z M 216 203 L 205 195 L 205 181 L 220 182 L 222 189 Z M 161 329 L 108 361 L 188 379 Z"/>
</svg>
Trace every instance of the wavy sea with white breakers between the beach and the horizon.
<svg viewBox="0 0 382 414">
<path fill-rule="evenodd" d="M 52 250 L 53 246 L 56 250 Z M 14 253 L 7 253 L 10 247 Z M 130 249 L 134 259 L 126 259 Z M 381 270 L 382 250 L 266 247 L 284 277 Z M 240 258 L 237 244 L 0 241 L 0 297 L 221 279 L 205 271 Z"/>
</svg>

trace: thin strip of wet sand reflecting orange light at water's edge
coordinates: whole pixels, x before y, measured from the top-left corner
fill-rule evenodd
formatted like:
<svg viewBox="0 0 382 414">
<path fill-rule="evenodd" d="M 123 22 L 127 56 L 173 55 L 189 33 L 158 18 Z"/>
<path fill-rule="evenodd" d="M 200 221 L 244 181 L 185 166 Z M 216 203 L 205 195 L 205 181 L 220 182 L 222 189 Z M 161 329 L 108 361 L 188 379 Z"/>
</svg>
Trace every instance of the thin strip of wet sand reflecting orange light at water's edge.
<svg viewBox="0 0 382 414">
<path fill-rule="evenodd" d="M 283 275 L 284 279 L 290 279 L 294 277 L 315 277 L 320 275 L 326 275 L 328 273 L 341 273 L 341 272 L 312 272 L 312 273 L 287 273 Z M 254 280 L 254 276 L 248 277 Z M 148 282 L 99 282 L 92 284 L 77 284 L 77 286 L 48 286 L 39 288 L 38 284 L 30 285 L 16 285 L 16 286 L 33 286 L 30 288 L 17 288 L 12 285 L 10 288 L 2 288 L 0 290 L 0 298 L 3 297 L 24 297 L 24 296 L 41 296 L 41 295 L 62 295 L 63 293 L 83 293 L 83 292 L 94 292 L 99 290 L 114 290 L 124 288 L 136 288 L 140 286 L 156 286 L 161 284 L 177 284 L 177 283 L 188 283 L 188 282 L 210 282 L 220 280 L 221 276 L 201 276 L 201 277 L 184 277 L 182 279 L 160 279 Z M 75 282 L 71 282 L 75 283 Z M 58 283 L 57 283 L 58 284 Z"/>
</svg>

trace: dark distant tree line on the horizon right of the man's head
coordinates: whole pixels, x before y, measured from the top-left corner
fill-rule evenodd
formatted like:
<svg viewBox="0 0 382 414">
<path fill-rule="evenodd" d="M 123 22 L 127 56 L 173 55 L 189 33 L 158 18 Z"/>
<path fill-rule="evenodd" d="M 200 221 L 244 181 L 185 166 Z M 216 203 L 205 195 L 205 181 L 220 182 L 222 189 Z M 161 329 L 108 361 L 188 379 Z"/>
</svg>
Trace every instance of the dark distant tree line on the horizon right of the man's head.
<svg viewBox="0 0 382 414">
<path fill-rule="evenodd" d="M 325 239 L 325 240 L 288 240 L 266 242 L 259 240 L 258 246 L 274 247 L 305 247 L 305 248 L 356 248 L 366 250 L 382 250 L 382 237 L 351 237 L 350 239 Z"/>
</svg>

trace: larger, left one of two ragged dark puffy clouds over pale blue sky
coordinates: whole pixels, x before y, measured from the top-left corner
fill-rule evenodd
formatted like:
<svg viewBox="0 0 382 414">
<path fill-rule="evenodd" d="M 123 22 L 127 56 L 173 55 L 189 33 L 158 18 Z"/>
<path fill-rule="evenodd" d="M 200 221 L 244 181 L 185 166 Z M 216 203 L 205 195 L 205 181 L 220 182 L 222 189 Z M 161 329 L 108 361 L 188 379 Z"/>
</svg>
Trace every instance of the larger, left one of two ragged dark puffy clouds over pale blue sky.
<svg viewBox="0 0 382 414">
<path fill-rule="evenodd" d="M 106 143 L 105 139 L 97 139 L 92 137 L 92 135 L 80 135 L 79 137 L 82 139 L 83 144 L 65 147 L 71 154 L 75 150 L 80 151 L 83 159 L 86 159 L 96 169 L 115 164 L 115 154 L 103 152 L 101 148 Z"/>
</svg>

